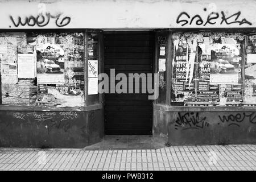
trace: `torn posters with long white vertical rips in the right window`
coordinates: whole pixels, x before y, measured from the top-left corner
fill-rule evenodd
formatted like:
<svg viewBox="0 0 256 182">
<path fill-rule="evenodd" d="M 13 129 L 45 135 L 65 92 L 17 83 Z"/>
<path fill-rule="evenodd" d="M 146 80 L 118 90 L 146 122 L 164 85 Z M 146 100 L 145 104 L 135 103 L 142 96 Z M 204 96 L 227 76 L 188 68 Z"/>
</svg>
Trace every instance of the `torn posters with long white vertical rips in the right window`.
<svg viewBox="0 0 256 182">
<path fill-rule="evenodd" d="M 195 101 L 196 41 L 174 36 L 172 102 Z"/>
</svg>

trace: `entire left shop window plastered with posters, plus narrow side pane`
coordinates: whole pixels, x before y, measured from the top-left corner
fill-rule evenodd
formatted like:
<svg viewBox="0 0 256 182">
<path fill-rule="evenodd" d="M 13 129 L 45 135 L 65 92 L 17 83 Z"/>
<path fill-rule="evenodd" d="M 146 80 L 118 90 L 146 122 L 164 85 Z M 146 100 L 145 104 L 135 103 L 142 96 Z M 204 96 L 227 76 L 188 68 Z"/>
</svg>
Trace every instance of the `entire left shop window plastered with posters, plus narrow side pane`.
<svg viewBox="0 0 256 182">
<path fill-rule="evenodd" d="M 97 59 L 93 35 L 88 36 L 92 60 Z M 0 33 L 1 104 L 85 106 L 84 37 L 84 32 Z"/>
</svg>

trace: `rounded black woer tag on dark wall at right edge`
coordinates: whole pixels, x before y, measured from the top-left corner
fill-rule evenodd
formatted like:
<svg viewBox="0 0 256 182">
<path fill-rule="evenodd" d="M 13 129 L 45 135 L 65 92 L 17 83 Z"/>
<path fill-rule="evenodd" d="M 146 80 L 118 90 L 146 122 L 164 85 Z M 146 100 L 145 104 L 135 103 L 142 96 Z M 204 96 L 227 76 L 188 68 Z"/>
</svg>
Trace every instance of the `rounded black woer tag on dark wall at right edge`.
<svg viewBox="0 0 256 182">
<path fill-rule="evenodd" d="M 255 113 L 250 113 L 250 114 L 246 114 L 246 113 L 237 113 L 237 114 L 229 114 L 229 115 L 218 115 L 218 118 L 220 118 L 220 121 L 222 123 L 225 122 L 229 122 L 228 126 L 238 126 L 240 127 L 240 123 L 243 122 L 246 118 L 249 118 L 249 122 L 256 124 L 256 115 Z"/>
</svg>

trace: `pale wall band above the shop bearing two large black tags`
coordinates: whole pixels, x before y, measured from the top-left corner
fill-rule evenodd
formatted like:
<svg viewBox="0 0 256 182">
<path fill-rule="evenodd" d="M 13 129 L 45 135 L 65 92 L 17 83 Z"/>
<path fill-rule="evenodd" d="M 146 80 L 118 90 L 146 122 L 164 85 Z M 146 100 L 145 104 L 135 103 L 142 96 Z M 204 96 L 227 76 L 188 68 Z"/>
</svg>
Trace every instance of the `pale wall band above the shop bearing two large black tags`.
<svg viewBox="0 0 256 182">
<path fill-rule="evenodd" d="M 255 27 L 253 0 L 0 0 L 0 28 Z"/>
</svg>

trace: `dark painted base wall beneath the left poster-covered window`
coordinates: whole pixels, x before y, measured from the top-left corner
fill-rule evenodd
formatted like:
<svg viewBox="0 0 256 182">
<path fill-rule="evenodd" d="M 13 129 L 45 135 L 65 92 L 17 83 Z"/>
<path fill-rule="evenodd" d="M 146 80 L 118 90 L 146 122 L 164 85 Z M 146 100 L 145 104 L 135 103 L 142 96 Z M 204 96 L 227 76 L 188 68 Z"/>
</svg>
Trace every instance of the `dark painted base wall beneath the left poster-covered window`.
<svg viewBox="0 0 256 182">
<path fill-rule="evenodd" d="M 0 147 L 82 148 L 103 135 L 102 110 L 0 111 Z"/>
</svg>

